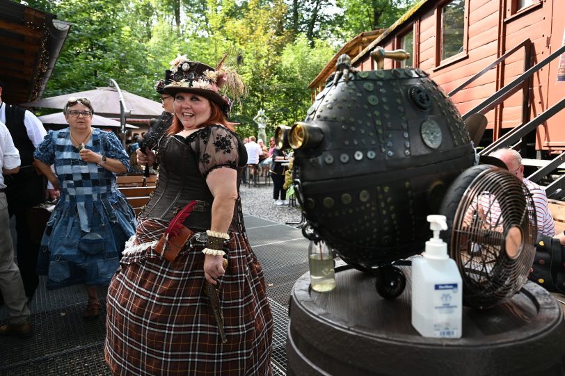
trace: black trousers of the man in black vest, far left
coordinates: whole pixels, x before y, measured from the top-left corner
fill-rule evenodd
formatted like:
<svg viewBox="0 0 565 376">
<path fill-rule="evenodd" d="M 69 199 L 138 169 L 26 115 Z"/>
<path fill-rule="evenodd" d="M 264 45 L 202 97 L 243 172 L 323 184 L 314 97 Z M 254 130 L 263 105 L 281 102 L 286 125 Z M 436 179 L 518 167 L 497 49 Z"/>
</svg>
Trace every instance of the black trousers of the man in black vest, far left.
<svg viewBox="0 0 565 376">
<path fill-rule="evenodd" d="M 18 174 L 6 175 L 8 213 L 15 217 L 17 231 L 17 266 L 24 281 L 26 296 L 33 297 L 39 278 L 35 269 L 38 263 L 40 242 L 30 234 L 28 219 L 33 206 L 45 202 L 45 178 L 33 167 L 21 169 Z M 40 238 L 40 237 L 39 237 Z"/>
</svg>

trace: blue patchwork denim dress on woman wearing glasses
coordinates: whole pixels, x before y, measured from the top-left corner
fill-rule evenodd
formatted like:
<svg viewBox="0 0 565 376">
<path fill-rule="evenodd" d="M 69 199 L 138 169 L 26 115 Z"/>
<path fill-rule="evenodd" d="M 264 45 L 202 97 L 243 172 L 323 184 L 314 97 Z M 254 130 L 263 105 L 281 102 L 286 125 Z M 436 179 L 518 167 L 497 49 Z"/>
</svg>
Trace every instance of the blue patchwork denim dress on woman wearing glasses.
<svg viewBox="0 0 565 376">
<path fill-rule="evenodd" d="M 93 129 L 85 146 L 129 168 L 114 133 Z M 49 289 L 109 284 L 136 225 L 134 211 L 116 185 L 116 174 L 83 161 L 68 128 L 49 131 L 33 156 L 55 165 L 61 190 L 41 240 L 38 274 L 48 276 Z"/>
</svg>

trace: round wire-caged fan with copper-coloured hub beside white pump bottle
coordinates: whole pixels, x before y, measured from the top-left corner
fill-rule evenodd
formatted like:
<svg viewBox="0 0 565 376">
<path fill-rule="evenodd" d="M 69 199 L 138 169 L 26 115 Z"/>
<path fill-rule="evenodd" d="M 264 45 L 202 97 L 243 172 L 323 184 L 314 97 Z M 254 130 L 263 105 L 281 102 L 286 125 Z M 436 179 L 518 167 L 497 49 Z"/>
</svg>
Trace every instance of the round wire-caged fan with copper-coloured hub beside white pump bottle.
<svg viewBox="0 0 565 376">
<path fill-rule="evenodd" d="M 449 186 L 440 212 L 465 305 L 486 309 L 520 290 L 534 261 L 536 214 L 514 174 L 492 165 L 465 170 Z"/>
</svg>

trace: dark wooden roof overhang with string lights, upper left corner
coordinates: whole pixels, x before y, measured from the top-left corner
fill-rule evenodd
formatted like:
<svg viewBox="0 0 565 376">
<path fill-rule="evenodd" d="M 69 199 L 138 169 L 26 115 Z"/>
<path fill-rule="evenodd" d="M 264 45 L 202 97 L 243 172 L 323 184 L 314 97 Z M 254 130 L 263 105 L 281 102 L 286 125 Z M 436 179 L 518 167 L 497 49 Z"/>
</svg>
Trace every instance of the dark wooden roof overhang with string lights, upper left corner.
<svg viewBox="0 0 565 376">
<path fill-rule="evenodd" d="M 70 24 L 55 15 L 0 0 L 2 99 L 22 104 L 38 99 L 55 67 Z"/>
</svg>

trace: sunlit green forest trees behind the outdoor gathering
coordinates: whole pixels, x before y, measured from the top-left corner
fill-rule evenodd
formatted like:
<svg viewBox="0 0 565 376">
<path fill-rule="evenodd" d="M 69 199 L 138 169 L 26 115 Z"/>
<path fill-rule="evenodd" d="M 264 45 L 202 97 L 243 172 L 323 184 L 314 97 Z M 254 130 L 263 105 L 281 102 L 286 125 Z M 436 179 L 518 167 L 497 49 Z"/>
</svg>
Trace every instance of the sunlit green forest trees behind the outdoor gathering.
<svg viewBox="0 0 565 376">
<path fill-rule="evenodd" d="M 44 97 L 90 90 L 115 79 L 122 90 L 158 99 L 154 82 L 177 54 L 214 66 L 228 49 L 244 54 L 249 88 L 231 120 L 255 134 L 261 108 L 279 124 L 303 120 L 308 84 L 344 42 L 390 26 L 415 0 L 28 0 L 71 22 Z"/>
</svg>

